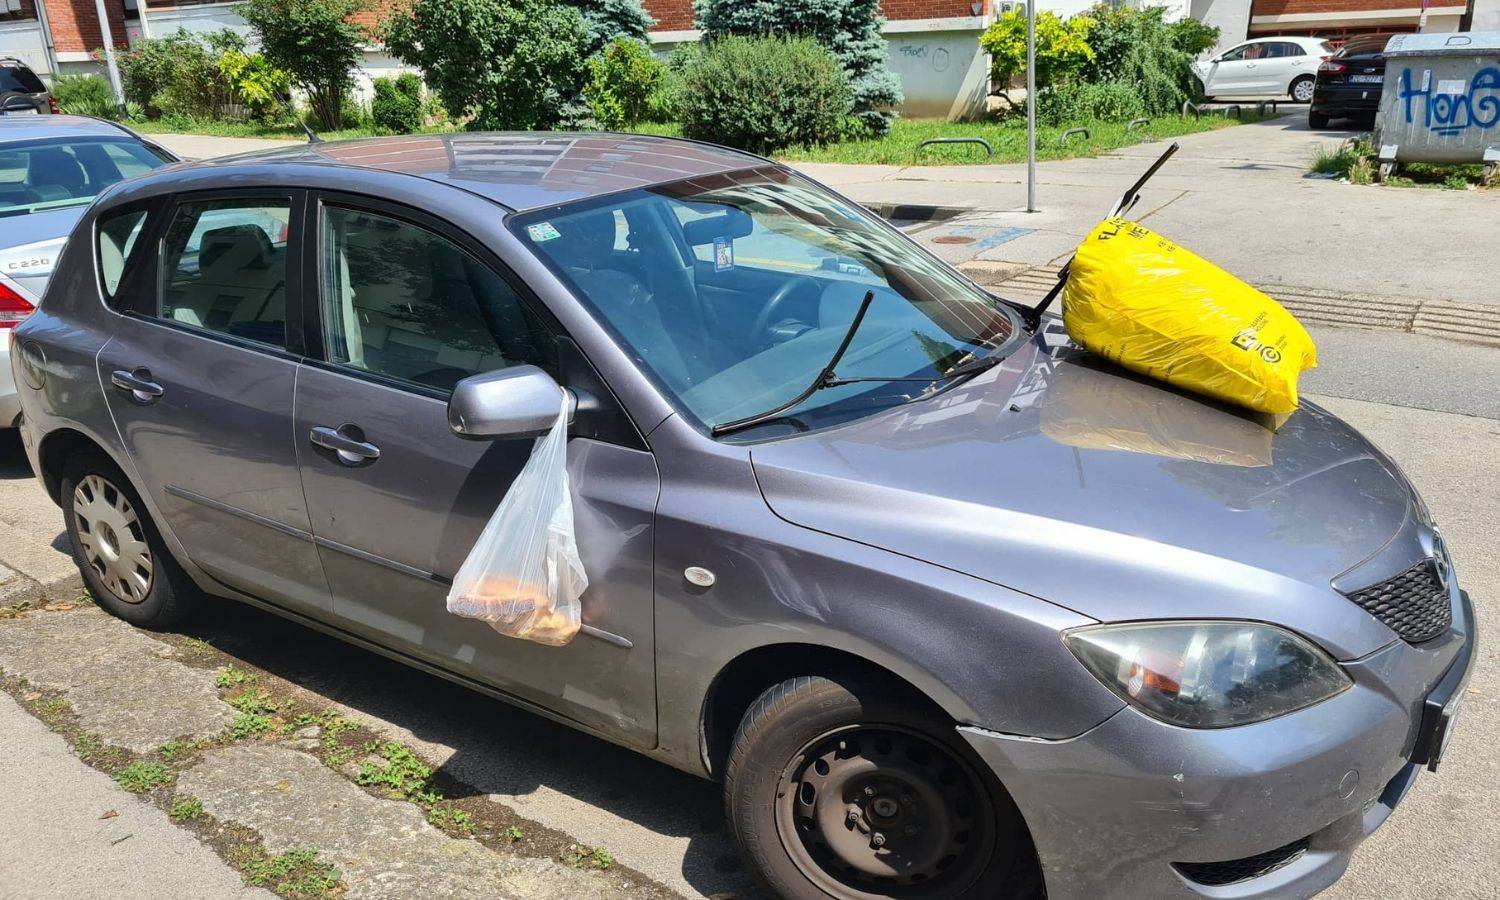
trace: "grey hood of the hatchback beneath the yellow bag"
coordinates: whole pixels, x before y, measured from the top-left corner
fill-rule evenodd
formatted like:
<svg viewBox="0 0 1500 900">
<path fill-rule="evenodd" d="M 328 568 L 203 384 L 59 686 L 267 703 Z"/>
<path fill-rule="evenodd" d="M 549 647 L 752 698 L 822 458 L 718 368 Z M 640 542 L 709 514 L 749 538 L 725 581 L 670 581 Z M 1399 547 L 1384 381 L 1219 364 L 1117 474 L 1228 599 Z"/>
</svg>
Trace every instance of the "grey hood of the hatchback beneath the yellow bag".
<svg viewBox="0 0 1500 900">
<path fill-rule="evenodd" d="M 934 398 L 754 446 L 766 502 L 1101 621 L 1256 618 L 1348 656 L 1390 640 L 1329 584 L 1413 512 L 1383 454 L 1311 404 L 1274 422 L 1048 327 Z"/>
</svg>

